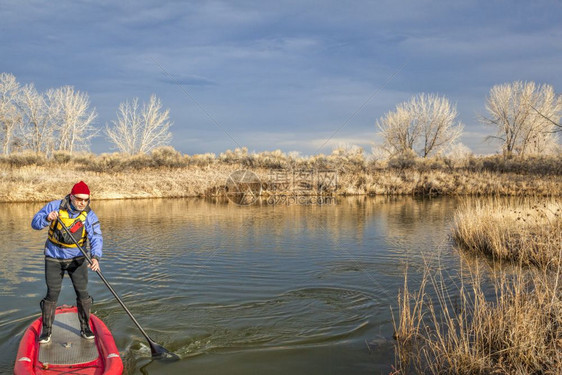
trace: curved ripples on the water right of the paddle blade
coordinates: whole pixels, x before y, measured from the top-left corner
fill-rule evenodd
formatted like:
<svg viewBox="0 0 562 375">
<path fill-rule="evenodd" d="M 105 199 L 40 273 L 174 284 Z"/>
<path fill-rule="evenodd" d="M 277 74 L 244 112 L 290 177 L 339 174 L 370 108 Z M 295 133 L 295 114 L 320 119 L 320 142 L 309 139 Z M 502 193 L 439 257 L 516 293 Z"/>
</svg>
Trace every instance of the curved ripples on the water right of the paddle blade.
<svg viewBox="0 0 562 375">
<path fill-rule="evenodd" d="M 320 346 L 345 340 L 366 329 L 374 304 L 372 296 L 360 291 L 321 287 L 235 304 L 185 304 L 181 297 L 170 297 L 145 301 L 143 315 L 152 316 L 159 327 L 154 340 L 162 339 L 167 349 L 189 357 L 226 349 Z M 129 347 L 143 355 L 137 345 L 129 343 Z"/>
</svg>

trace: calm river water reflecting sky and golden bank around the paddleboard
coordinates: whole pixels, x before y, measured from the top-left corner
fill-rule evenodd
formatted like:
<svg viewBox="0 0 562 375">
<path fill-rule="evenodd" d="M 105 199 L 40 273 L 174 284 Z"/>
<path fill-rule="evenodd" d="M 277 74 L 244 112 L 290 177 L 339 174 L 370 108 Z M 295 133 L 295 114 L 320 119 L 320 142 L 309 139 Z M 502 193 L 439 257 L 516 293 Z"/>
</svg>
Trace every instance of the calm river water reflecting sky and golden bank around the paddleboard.
<svg viewBox="0 0 562 375">
<path fill-rule="evenodd" d="M 98 201 L 105 277 L 154 341 L 90 272 L 93 311 L 128 374 L 387 374 L 404 273 L 454 268 L 455 199 L 341 198 L 335 205 L 240 207 L 223 200 Z M 0 204 L 0 373 L 46 291 L 30 227 L 43 204 Z M 59 304 L 74 304 L 65 277 Z"/>
</svg>

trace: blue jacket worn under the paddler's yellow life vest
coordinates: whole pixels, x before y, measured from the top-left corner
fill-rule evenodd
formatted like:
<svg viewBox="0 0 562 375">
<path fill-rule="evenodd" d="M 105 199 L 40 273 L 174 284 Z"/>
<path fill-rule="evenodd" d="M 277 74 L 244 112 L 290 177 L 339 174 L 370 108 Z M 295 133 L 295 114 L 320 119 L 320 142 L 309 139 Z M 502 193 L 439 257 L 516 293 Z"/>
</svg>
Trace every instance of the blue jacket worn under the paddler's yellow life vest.
<svg viewBox="0 0 562 375">
<path fill-rule="evenodd" d="M 47 221 L 47 215 L 52 211 L 58 211 L 61 205 L 61 200 L 56 200 L 47 203 L 39 212 L 33 216 L 31 220 L 31 227 L 33 229 L 41 230 L 43 228 L 51 225 L 50 221 Z M 80 214 L 80 211 L 70 211 L 70 217 L 75 218 Z M 102 255 L 103 238 L 101 236 L 101 228 L 98 217 L 94 211 L 90 211 L 88 216 L 86 216 L 86 222 L 84 223 L 84 228 L 86 229 L 88 242 L 90 243 L 90 254 L 92 258 L 100 259 Z M 86 250 L 86 249 L 84 249 Z M 51 258 L 58 259 L 70 259 L 78 256 L 82 256 L 82 253 L 78 248 L 72 247 L 61 247 L 55 245 L 49 239 L 45 242 L 45 255 Z"/>
</svg>

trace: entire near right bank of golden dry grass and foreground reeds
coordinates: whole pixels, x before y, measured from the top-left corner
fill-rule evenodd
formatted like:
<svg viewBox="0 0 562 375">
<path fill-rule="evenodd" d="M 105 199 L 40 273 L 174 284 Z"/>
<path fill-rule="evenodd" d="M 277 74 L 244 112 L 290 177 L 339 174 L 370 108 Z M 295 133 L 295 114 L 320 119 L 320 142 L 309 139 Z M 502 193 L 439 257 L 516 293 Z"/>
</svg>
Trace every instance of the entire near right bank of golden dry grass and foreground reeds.
<svg viewBox="0 0 562 375">
<path fill-rule="evenodd" d="M 553 199 L 461 206 L 460 277 L 427 266 L 399 295 L 396 374 L 561 374 L 561 233 Z"/>
</svg>

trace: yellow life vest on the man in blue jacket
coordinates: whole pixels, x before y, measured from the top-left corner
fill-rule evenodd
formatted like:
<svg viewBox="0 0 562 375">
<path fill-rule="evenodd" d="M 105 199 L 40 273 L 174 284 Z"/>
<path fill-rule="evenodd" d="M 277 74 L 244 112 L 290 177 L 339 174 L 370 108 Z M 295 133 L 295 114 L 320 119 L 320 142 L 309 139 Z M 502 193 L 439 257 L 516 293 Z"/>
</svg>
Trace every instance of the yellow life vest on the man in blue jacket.
<svg viewBox="0 0 562 375">
<path fill-rule="evenodd" d="M 86 216 L 88 216 L 88 212 L 90 212 L 90 205 L 86 206 L 84 211 L 80 212 L 75 218 L 70 217 L 69 209 L 70 197 L 66 196 L 62 200 L 59 208 L 59 218 L 72 235 L 72 238 L 74 238 L 80 246 L 84 246 L 87 237 L 84 224 L 86 223 Z M 66 233 L 57 220 L 51 222 L 49 227 L 49 241 L 62 247 L 76 248 L 76 244 L 72 238 L 68 236 L 68 233 Z"/>
</svg>

